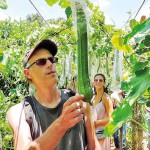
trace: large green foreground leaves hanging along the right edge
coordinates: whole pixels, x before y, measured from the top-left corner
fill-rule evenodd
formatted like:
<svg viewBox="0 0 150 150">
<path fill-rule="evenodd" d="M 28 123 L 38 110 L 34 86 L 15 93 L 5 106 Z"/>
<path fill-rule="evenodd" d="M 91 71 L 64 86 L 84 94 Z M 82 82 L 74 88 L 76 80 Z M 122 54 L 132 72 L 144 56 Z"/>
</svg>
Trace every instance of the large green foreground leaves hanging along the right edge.
<svg viewBox="0 0 150 150">
<path fill-rule="evenodd" d="M 129 40 L 133 37 L 135 43 L 132 44 L 131 47 L 135 47 L 134 45 L 136 45 L 136 50 L 135 53 L 133 53 L 129 57 L 130 66 L 131 66 L 130 79 L 122 83 L 122 89 L 127 93 L 127 96 L 124 99 L 124 103 L 123 103 L 125 105 L 123 108 L 119 107 L 113 112 L 112 115 L 113 121 L 111 121 L 107 125 L 105 130 L 105 134 L 107 135 L 111 135 L 114 131 L 116 131 L 119 127 L 121 127 L 122 124 L 125 123 L 128 119 L 131 119 L 133 104 L 136 101 L 138 101 L 144 95 L 145 92 L 148 92 L 148 97 L 142 99 L 143 104 L 144 103 L 148 104 L 150 101 L 150 91 L 148 90 L 150 88 L 149 55 L 145 54 L 145 53 L 149 53 L 149 51 L 141 52 L 141 45 L 142 45 L 142 49 L 150 49 L 149 42 L 147 41 L 149 38 L 149 28 L 150 28 L 149 22 L 150 19 L 147 19 L 142 23 L 136 22 L 136 25 L 133 28 L 131 28 L 132 31 L 129 34 L 127 34 L 124 37 L 124 39 L 123 38 L 121 39 L 122 40 L 121 43 L 123 43 L 123 45 L 126 45 L 129 43 Z M 137 33 L 141 33 L 142 37 L 141 38 L 137 37 L 136 36 Z M 120 45 L 119 40 L 120 40 L 119 38 L 116 40 L 117 41 L 116 45 L 113 43 L 113 45 L 116 46 L 116 48 L 118 49 Z M 144 42 L 145 40 L 146 42 Z M 124 50 L 124 52 L 126 52 L 126 50 Z M 121 118 L 118 119 L 119 117 L 118 113 L 121 116 L 124 116 L 125 114 L 124 119 Z"/>
</svg>

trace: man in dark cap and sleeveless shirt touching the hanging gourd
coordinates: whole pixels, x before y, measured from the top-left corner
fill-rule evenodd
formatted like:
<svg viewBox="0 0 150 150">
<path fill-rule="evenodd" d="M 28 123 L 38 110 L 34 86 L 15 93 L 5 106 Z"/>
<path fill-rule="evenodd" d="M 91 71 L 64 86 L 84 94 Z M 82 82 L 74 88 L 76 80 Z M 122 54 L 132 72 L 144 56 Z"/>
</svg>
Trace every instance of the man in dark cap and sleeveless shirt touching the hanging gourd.
<svg viewBox="0 0 150 150">
<path fill-rule="evenodd" d="M 95 149 L 90 106 L 82 101 L 84 96 L 71 97 L 57 88 L 56 54 L 56 44 L 42 40 L 24 57 L 24 74 L 36 93 L 7 113 L 16 150 Z"/>
</svg>

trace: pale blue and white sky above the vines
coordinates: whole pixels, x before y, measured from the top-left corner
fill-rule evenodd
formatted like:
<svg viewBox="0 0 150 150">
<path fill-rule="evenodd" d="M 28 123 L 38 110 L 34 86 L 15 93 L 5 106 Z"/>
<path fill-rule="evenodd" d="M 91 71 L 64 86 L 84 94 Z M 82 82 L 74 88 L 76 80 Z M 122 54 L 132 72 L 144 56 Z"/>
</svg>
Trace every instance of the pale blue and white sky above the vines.
<svg viewBox="0 0 150 150">
<path fill-rule="evenodd" d="M 100 10 L 104 12 L 106 24 L 114 24 L 117 28 L 122 28 L 128 18 L 133 19 L 138 12 L 144 0 L 90 0 L 95 5 L 100 6 Z M 55 19 L 59 17 L 66 18 L 65 10 L 58 5 L 48 6 L 45 0 L 32 0 L 33 4 L 42 14 L 44 19 Z M 31 5 L 29 0 L 6 0 L 8 8 L 0 9 L 0 20 L 10 17 L 12 20 L 25 19 L 28 14 L 35 14 L 37 11 Z M 131 12 L 129 14 L 128 12 Z M 150 17 L 150 0 L 145 3 L 135 18 L 137 21 L 145 15 Z"/>
</svg>

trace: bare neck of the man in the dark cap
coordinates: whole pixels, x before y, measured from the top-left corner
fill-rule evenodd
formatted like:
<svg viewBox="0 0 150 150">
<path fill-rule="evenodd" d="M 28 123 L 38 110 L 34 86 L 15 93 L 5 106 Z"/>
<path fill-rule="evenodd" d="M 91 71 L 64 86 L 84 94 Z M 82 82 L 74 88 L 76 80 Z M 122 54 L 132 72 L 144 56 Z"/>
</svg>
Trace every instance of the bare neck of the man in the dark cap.
<svg viewBox="0 0 150 150">
<path fill-rule="evenodd" d="M 55 108 L 61 101 L 61 91 L 56 86 L 37 89 L 35 98 L 41 105 L 48 108 Z"/>
</svg>

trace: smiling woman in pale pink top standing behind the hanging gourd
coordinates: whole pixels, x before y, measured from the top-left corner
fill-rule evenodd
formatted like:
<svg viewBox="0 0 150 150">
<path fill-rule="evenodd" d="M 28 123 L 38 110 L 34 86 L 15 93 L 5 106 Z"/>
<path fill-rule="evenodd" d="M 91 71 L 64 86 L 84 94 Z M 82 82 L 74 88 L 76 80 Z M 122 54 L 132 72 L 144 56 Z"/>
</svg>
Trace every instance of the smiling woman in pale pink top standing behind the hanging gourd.
<svg viewBox="0 0 150 150">
<path fill-rule="evenodd" d="M 113 104 L 105 89 L 105 76 L 96 74 L 94 76 L 94 96 L 92 98 L 92 117 L 95 125 L 96 136 L 102 150 L 110 150 L 109 137 L 101 136 L 104 127 L 109 123 L 113 112 Z"/>
</svg>

